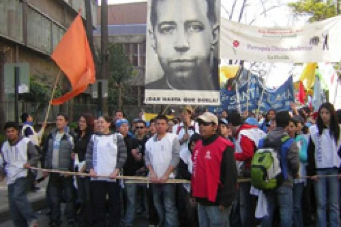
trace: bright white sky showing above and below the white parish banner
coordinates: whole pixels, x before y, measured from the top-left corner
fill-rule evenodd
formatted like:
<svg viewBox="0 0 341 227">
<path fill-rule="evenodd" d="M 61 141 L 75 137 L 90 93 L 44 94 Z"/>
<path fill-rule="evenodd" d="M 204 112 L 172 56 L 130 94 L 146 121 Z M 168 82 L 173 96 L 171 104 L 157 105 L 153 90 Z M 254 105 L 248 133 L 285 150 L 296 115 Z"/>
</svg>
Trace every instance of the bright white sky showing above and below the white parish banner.
<svg viewBox="0 0 341 227">
<path fill-rule="evenodd" d="M 100 4 L 101 0 L 98 0 Z M 248 1 L 248 7 L 246 8 L 245 14 L 241 23 L 249 24 L 252 20 L 255 20 L 252 25 L 255 26 L 294 26 L 304 24 L 306 19 L 297 19 L 295 18 L 290 9 L 287 7 L 287 4 L 290 2 L 296 2 L 297 0 L 250 0 Z M 146 2 L 146 0 L 108 0 L 108 4 L 122 4 L 122 3 L 133 3 L 133 2 Z M 225 10 L 221 10 L 222 17 L 229 17 L 229 10 L 232 8 L 232 4 L 234 1 L 232 0 L 221 0 L 222 6 Z M 242 8 L 242 0 L 237 0 L 237 4 L 235 6 L 235 12 L 233 14 L 232 20 L 237 21 L 239 11 Z M 263 2 L 265 8 L 274 8 L 266 13 L 266 15 L 260 15 L 263 11 L 263 6 L 260 4 Z M 271 69 L 269 70 L 270 64 L 265 64 L 264 66 L 266 71 L 269 71 L 269 76 L 266 82 L 267 87 L 279 87 L 282 85 L 287 78 L 289 77 L 289 71 L 292 70 L 290 64 L 275 64 L 271 65 Z M 296 72 L 296 78 L 298 78 L 300 74 L 300 70 Z M 297 80 L 297 79 L 296 79 Z M 294 79 L 294 81 L 296 81 Z"/>
</svg>

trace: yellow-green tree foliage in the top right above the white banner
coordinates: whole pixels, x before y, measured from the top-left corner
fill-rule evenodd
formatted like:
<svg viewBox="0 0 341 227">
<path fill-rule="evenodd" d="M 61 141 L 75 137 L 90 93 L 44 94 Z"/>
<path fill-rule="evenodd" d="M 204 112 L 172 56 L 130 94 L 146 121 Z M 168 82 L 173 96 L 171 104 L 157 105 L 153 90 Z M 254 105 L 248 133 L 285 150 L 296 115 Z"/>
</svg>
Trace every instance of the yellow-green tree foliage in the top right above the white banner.
<svg viewBox="0 0 341 227">
<path fill-rule="evenodd" d="M 338 0 L 337 0 L 338 4 Z M 296 16 L 309 16 L 309 21 L 320 21 L 336 16 L 335 1 L 327 0 L 300 0 L 295 3 L 289 3 Z"/>
</svg>

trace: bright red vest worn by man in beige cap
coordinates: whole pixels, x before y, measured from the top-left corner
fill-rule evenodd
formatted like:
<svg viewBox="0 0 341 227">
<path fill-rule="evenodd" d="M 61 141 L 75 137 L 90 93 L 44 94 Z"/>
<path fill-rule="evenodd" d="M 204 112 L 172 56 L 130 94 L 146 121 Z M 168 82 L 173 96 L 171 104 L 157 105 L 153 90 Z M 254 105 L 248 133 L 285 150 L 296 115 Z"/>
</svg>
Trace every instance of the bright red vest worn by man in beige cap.
<svg viewBox="0 0 341 227">
<path fill-rule="evenodd" d="M 233 144 L 222 137 L 204 146 L 199 140 L 192 155 L 192 196 L 216 202 L 220 182 L 220 167 L 224 150 Z"/>
</svg>

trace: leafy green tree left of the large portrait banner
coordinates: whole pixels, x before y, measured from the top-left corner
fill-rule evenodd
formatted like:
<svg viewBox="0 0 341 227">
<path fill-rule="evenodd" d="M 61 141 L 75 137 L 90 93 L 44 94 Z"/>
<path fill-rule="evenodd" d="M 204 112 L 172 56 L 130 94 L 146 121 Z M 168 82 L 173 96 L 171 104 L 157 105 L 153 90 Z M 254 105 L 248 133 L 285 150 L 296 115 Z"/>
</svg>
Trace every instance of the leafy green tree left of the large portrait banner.
<svg viewBox="0 0 341 227">
<path fill-rule="evenodd" d="M 109 53 L 109 73 L 108 73 L 108 90 L 110 103 L 118 102 L 119 108 L 122 108 L 124 101 L 131 101 L 129 95 L 129 86 L 124 82 L 136 75 L 133 65 L 125 56 L 123 46 L 121 44 L 111 44 L 108 48 Z M 124 95 L 126 93 L 126 95 Z"/>
</svg>

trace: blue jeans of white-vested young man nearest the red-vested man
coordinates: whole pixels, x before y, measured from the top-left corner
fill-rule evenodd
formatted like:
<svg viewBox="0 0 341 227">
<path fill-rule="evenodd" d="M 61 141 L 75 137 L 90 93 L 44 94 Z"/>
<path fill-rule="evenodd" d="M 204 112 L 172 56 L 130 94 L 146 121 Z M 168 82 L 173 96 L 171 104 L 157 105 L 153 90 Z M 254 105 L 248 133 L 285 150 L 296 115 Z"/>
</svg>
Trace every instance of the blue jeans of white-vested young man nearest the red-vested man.
<svg viewBox="0 0 341 227">
<path fill-rule="evenodd" d="M 159 217 L 159 227 L 178 227 L 178 210 L 175 202 L 175 184 L 153 184 L 154 206 Z"/>
</svg>

